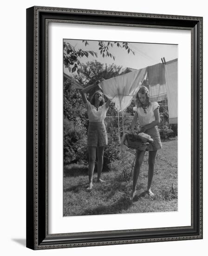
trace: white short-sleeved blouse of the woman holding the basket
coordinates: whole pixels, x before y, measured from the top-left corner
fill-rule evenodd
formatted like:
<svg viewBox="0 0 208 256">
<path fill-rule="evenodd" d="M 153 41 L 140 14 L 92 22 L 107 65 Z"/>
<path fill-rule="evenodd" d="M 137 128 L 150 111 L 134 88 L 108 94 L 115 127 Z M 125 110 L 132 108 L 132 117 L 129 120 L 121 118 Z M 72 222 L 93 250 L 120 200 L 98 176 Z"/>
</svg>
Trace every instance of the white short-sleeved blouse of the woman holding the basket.
<svg viewBox="0 0 208 256">
<path fill-rule="evenodd" d="M 154 110 L 159 107 L 160 105 L 157 102 L 150 102 L 150 105 L 145 109 L 142 107 L 133 108 L 133 111 L 138 114 L 138 121 L 141 127 L 155 121 Z"/>
</svg>

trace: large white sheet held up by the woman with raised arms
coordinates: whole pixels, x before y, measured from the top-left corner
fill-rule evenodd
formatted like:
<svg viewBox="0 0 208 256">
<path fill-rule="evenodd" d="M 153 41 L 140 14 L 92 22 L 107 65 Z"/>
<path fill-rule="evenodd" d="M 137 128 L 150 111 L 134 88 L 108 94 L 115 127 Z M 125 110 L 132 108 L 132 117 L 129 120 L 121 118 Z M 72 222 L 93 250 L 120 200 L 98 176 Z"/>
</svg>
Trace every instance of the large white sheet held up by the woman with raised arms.
<svg viewBox="0 0 208 256">
<path fill-rule="evenodd" d="M 115 102 L 115 108 L 118 112 L 124 111 L 130 105 L 133 96 L 143 82 L 145 74 L 146 68 L 142 68 L 101 81 L 100 85 L 104 95 Z"/>
</svg>

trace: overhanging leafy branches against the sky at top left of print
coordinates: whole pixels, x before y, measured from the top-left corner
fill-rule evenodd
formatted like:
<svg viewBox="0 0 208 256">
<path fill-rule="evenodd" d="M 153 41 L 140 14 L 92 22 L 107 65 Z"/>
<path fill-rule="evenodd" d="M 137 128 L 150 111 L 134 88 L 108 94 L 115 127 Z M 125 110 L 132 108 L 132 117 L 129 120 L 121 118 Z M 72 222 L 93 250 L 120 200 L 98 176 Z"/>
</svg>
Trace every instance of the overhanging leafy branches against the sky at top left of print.
<svg viewBox="0 0 208 256">
<path fill-rule="evenodd" d="M 85 46 L 89 45 L 87 40 L 82 41 Z M 135 55 L 135 52 L 129 47 L 128 42 L 108 42 L 108 41 L 97 41 L 98 42 L 98 51 L 99 54 L 104 57 L 110 57 L 115 61 L 115 56 L 110 52 L 110 49 L 116 45 L 116 47 L 121 47 L 127 51 L 129 54 L 130 52 Z M 70 43 L 64 42 L 64 65 L 69 69 L 69 72 L 74 73 L 75 71 L 80 72 L 82 69 L 82 64 L 79 61 L 79 58 L 83 56 L 88 57 L 89 54 L 92 56 L 97 57 L 97 53 L 94 51 L 84 51 L 82 49 L 75 50 L 75 48 Z"/>
</svg>

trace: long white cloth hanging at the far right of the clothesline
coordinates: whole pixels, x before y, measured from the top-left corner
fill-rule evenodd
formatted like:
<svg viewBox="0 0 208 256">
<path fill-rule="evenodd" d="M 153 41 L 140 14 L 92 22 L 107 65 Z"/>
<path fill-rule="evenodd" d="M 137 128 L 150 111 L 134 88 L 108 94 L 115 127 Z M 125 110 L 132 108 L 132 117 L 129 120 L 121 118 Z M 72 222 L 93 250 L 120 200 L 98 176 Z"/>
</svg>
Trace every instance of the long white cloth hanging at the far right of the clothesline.
<svg viewBox="0 0 208 256">
<path fill-rule="evenodd" d="M 178 117 L 178 59 L 165 65 L 166 88 L 168 96 L 169 123 L 177 123 Z"/>
</svg>

